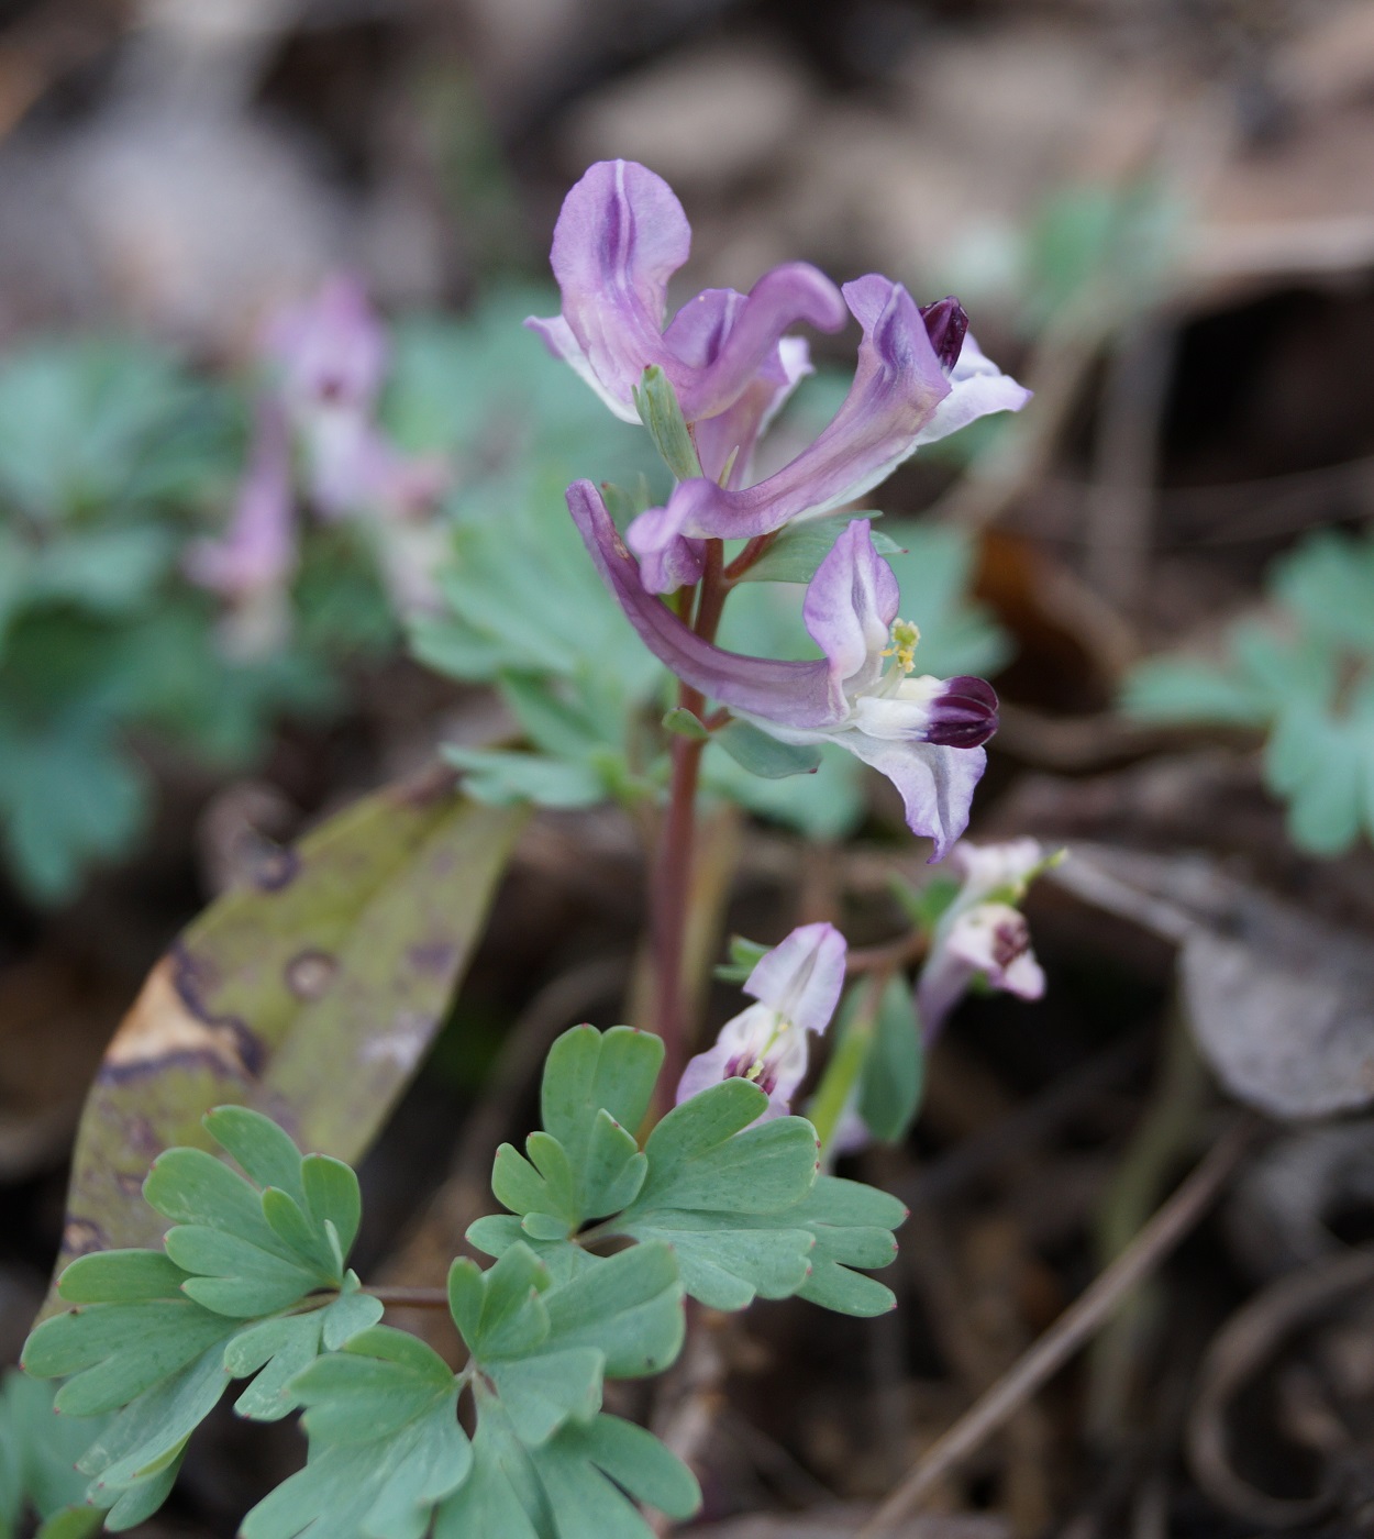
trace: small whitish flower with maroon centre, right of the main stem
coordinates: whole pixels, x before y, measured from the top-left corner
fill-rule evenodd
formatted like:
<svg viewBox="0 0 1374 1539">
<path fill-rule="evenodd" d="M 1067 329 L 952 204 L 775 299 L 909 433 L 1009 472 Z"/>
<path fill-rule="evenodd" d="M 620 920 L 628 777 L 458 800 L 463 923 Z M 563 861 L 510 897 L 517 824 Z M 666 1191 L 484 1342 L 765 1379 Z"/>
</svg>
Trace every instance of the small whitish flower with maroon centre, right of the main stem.
<svg viewBox="0 0 1374 1539">
<path fill-rule="evenodd" d="M 969 983 L 982 976 L 992 988 L 1022 999 L 1045 993 L 1045 973 L 1031 950 L 1031 931 L 1015 906 L 1046 857 L 1034 839 L 1003 845 L 962 843 L 954 860 L 963 871 L 959 896 L 940 917 L 915 991 L 922 1033 L 929 1042 Z"/>
</svg>

